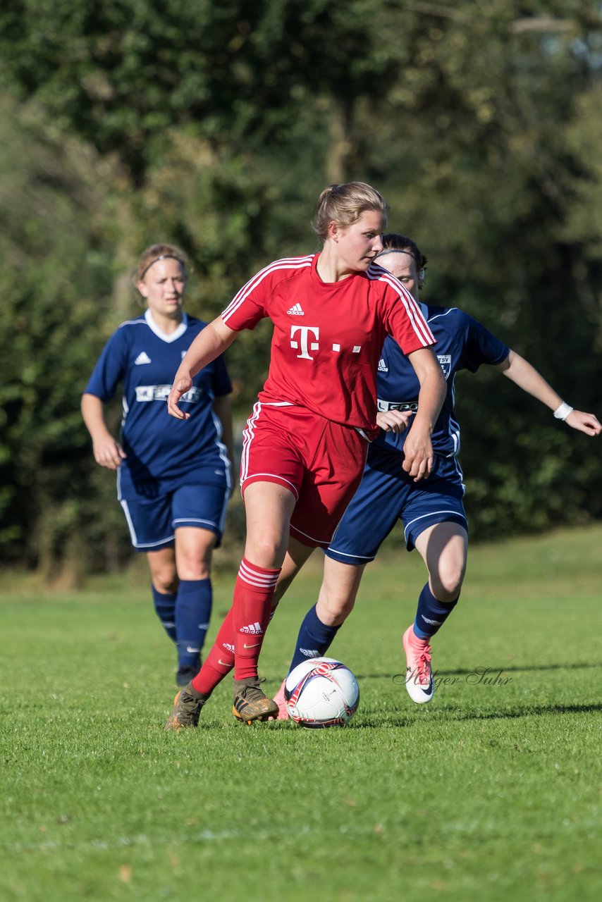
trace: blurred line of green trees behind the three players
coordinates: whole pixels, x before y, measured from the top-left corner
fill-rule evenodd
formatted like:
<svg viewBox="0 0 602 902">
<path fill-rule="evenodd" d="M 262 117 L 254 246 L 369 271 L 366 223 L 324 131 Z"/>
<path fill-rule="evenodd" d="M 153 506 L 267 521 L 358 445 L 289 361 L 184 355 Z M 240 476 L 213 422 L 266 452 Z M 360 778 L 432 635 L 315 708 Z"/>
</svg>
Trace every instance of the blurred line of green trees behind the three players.
<svg viewBox="0 0 602 902">
<path fill-rule="evenodd" d="M 362 179 L 458 305 L 602 413 L 602 18 L 585 0 L 5 0 L 0 5 L 0 547 L 86 572 L 130 554 L 79 396 L 136 309 L 146 244 L 188 308 L 317 249 Z M 228 352 L 244 419 L 268 324 Z M 487 370 L 458 379 L 474 538 L 602 516 L 600 450 Z M 118 427 L 119 411 L 112 411 Z M 236 502 L 232 532 L 240 529 Z"/>
</svg>

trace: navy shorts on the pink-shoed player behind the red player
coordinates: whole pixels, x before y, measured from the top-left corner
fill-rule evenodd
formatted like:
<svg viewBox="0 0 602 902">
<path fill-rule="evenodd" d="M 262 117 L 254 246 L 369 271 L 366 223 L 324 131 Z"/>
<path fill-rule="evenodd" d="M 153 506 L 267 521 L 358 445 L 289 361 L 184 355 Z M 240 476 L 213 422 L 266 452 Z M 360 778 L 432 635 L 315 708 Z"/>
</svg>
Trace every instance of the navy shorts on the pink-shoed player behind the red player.
<svg viewBox="0 0 602 902">
<path fill-rule="evenodd" d="M 364 478 L 326 551 L 343 564 L 366 564 L 394 528 L 403 522 L 408 551 L 434 523 L 459 523 L 468 529 L 462 498 L 464 484 L 456 458 L 435 457 L 427 480 L 414 483 L 403 469 L 403 455 L 368 452 Z"/>
</svg>

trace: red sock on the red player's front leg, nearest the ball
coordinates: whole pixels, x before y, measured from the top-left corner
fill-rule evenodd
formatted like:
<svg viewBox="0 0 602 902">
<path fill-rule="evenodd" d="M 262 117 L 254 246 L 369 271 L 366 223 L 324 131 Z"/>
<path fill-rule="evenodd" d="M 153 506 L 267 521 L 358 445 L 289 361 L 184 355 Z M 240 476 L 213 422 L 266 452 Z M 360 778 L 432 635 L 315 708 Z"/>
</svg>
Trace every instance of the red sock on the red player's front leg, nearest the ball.
<svg viewBox="0 0 602 902">
<path fill-rule="evenodd" d="M 234 678 L 257 676 L 257 661 L 272 612 L 273 593 L 281 567 L 277 570 L 251 564 L 245 557 L 234 589 L 235 664 Z"/>
</svg>

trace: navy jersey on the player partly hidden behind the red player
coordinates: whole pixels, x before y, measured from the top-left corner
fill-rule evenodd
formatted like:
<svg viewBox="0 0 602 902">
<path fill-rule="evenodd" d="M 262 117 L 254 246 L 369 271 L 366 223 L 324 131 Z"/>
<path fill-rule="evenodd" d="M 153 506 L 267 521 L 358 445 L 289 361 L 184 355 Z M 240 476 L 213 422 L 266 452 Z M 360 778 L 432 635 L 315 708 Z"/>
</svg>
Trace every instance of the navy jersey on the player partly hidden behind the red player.
<svg viewBox="0 0 602 902">
<path fill-rule="evenodd" d="M 460 447 L 460 429 L 454 418 L 456 373 L 458 370 L 476 373 L 481 364 L 501 364 L 510 354 L 510 348 L 458 308 L 432 307 L 431 304 L 421 304 L 421 308 L 437 339 L 433 350 L 448 383 L 448 393 L 432 432 L 432 447 L 435 454 L 453 457 Z M 389 336 L 384 340 L 376 388 L 379 410 L 418 410 L 420 382 L 412 364 Z M 408 430 L 395 434 L 381 432 L 373 446 L 401 451 L 407 433 Z"/>
</svg>

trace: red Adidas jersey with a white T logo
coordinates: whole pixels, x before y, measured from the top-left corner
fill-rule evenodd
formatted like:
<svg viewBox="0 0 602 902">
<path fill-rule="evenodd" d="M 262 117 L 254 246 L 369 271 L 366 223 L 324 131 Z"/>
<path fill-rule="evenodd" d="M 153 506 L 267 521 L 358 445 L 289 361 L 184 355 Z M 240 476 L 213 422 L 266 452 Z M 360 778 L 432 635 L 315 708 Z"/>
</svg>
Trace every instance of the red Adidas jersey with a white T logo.
<svg viewBox="0 0 602 902">
<path fill-rule="evenodd" d="M 376 366 L 388 333 L 410 354 L 435 344 L 421 309 L 402 283 L 373 263 L 323 282 L 318 254 L 276 260 L 221 314 L 231 329 L 273 322 L 266 404 L 294 404 L 362 429 L 376 425 Z"/>
</svg>

